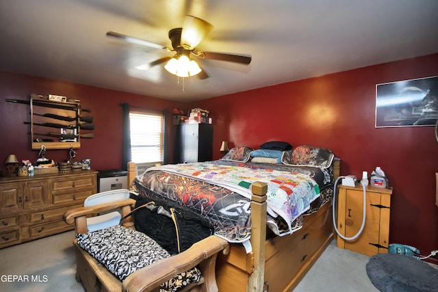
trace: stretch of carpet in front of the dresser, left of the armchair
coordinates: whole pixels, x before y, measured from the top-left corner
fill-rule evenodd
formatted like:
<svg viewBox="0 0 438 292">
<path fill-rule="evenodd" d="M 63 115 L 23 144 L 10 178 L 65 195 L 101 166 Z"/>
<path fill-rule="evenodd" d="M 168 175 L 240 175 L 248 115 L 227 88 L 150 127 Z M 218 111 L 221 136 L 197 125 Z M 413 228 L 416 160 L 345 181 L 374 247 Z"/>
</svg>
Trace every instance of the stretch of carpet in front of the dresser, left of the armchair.
<svg viewBox="0 0 438 292">
<path fill-rule="evenodd" d="M 74 238 L 68 231 L 0 250 L 0 291 L 85 291 L 75 280 Z"/>
</svg>

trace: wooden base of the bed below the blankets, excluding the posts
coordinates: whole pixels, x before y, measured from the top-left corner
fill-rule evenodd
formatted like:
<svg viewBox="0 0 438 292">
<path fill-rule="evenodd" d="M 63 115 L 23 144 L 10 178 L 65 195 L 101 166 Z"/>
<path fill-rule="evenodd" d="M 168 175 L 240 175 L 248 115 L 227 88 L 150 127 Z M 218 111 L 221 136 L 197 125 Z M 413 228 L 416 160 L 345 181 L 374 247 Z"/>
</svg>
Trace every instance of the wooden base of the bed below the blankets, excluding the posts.
<svg viewBox="0 0 438 292">
<path fill-rule="evenodd" d="M 264 281 L 268 291 L 292 291 L 333 239 L 331 204 L 305 217 L 304 226 L 283 237 L 268 239 L 265 245 Z M 248 289 L 254 254 L 232 244 L 227 255 L 219 255 L 216 281 L 219 291 Z"/>
</svg>

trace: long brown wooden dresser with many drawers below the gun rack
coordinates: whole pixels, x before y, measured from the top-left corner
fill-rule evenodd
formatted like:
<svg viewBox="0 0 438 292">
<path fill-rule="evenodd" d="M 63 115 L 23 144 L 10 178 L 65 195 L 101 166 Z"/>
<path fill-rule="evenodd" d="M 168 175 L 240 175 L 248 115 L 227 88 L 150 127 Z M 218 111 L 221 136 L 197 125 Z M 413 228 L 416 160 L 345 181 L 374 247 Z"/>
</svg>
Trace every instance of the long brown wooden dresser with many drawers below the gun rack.
<svg viewBox="0 0 438 292">
<path fill-rule="evenodd" d="M 97 192 L 97 172 L 0 177 L 0 248 L 75 228 L 62 216 Z"/>
</svg>

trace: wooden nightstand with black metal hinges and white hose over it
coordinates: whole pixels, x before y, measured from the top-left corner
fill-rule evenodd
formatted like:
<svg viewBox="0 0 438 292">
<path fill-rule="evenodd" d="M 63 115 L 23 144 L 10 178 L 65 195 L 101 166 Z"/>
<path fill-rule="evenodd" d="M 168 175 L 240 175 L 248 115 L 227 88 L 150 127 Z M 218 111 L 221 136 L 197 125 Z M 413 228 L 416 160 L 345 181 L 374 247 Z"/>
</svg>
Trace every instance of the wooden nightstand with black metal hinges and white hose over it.
<svg viewBox="0 0 438 292">
<path fill-rule="evenodd" d="M 337 237 L 337 247 L 373 256 L 388 252 L 389 211 L 392 189 L 366 187 L 365 227 L 354 240 Z M 337 196 L 337 229 L 344 237 L 354 237 L 363 218 L 363 188 L 339 187 Z"/>
</svg>

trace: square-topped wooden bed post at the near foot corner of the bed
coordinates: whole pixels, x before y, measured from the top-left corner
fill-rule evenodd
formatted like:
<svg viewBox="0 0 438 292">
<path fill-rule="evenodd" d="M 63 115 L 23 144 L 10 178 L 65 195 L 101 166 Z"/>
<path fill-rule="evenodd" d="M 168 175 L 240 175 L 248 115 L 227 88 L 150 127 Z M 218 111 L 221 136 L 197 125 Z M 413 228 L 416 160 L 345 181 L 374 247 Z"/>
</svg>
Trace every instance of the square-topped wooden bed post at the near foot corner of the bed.
<svg viewBox="0 0 438 292">
<path fill-rule="evenodd" d="M 265 244 L 266 244 L 266 192 L 268 185 L 253 183 L 251 201 L 251 238 L 254 254 L 254 271 L 249 275 L 247 291 L 263 291 L 265 282 Z"/>
</svg>

